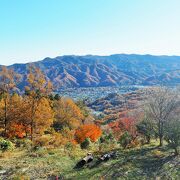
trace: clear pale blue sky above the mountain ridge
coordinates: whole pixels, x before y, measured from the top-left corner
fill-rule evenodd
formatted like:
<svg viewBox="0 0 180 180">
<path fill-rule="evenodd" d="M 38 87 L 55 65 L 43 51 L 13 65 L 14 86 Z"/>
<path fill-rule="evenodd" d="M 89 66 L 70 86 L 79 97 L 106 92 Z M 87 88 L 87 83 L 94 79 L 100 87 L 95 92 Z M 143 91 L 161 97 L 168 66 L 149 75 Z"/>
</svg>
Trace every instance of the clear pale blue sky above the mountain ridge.
<svg viewBox="0 0 180 180">
<path fill-rule="evenodd" d="M 180 55 L 180 0 L 0 0 L 0 64 L 113 53 Z"/>
</svg>

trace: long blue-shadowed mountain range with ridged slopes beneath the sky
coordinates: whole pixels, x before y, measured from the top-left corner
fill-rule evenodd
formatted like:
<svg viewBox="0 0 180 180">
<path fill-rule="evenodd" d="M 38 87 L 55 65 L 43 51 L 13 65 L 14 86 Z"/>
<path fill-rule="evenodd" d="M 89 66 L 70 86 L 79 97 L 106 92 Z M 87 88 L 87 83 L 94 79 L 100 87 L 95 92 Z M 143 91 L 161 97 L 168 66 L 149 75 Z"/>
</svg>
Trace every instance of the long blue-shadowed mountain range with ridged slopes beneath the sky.
<svg viewBox="0 0 180 180">
<path fill-rule="evenodd" d="M 62 87 L 156 85 L 180 83 L 180 56 L 116 54 L 110 56 L 59 56 L 34 63 L 57 90 Z M 25 85 L 28 64 L 9 66 L 22 74 Z"/>
</svg>

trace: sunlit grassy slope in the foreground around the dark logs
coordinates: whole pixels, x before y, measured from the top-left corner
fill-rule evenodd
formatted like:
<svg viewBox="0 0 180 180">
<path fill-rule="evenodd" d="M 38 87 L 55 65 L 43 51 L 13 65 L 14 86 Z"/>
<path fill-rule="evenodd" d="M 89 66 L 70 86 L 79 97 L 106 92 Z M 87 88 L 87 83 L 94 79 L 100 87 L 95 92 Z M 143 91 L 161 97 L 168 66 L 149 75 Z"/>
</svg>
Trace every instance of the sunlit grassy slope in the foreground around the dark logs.
<svg viewBox="0 0 180 180">
<path fill-rule="evenodd" d="M 167 147 L 157 149 L 156 144 L 131 150 L 117 150 L 118 158 L 97 163 L 79 170 L 73 167 L 86 152 L 64 153 L 62 149 L 39 150 L 36 153 L 16 151 L 0 158 L 0 179 L 28 177 L 47 179 L 58 175 L 64 179 L 180 179 L 179 157 Z M 5 172 L 5 171 L 6 172 Z M 26 179 L 25 178 L 25 179 Z M 18 179 L 18 178 L 16 178 Z"/>
</svg>

